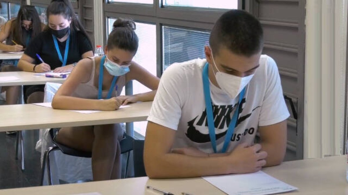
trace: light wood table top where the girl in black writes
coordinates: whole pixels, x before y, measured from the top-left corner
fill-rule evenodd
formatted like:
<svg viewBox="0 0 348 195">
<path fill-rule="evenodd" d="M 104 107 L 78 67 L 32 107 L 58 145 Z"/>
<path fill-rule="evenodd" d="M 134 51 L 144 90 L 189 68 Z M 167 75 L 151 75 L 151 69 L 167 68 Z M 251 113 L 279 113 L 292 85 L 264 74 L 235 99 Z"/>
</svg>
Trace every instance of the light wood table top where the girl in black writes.
<svg viewBox="0 0 348 195">
<path fill-rule="evenodd" d="M 34 75 L 32 72 L 16 71 L 16 72 L 0 72 L 0 77 L 15 76 L 18 80 L 0 81 L 0 86 L 15 85 L 41 85 L 47 82 L 63 83 L 65 78 L 49 78 L 42 75 Z"/>
</svg>

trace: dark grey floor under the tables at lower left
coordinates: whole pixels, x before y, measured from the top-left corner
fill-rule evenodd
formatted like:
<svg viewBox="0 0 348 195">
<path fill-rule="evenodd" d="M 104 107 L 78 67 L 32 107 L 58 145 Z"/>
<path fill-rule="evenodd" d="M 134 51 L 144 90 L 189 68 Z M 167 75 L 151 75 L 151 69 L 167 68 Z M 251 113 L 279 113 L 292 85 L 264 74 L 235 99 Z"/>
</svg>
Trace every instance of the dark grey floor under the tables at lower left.
<svg viewBox="0 0 348 195">
<path fill-rule="evenodd" d="M 40 185 L 40 153 L 35 151 L 38 137 L 38 130 L 24 131 L 25 170 L 22 171 L 20 157 L 15 160 L 16 135 L 0 132 L 0 189 Z"/>
</svg>

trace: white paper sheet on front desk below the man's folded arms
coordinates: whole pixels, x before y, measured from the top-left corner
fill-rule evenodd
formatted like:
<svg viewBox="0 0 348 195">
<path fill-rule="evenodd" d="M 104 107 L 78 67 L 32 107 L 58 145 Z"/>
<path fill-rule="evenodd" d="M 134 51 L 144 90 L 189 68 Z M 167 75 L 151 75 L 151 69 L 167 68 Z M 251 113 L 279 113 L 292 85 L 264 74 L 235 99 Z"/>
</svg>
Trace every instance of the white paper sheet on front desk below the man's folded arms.
<svg viewBox="0 0 348 195">
<path fill-rule="evenodd" d="M 231 195 L 266 195 L 290 192 L 297 189 L 262 171 L 202 178 L 224 193 Z"/>
</svg>

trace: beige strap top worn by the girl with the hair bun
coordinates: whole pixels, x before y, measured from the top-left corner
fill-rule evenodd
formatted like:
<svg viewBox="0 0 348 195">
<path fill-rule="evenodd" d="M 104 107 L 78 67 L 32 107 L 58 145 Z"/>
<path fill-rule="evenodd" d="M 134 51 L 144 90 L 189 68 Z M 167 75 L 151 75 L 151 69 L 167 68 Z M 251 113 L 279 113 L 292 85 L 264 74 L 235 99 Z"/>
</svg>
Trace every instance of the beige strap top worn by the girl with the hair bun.
<svg viewBox="0 0 348 195">
<path fill-rule="evenodd" d="M 94 57 L 89 59 L 93 60 L 93 67 L 92 72 L 90 74 L 89 80 L 86 83 L 80 83 L 72 96 L 74 97 L 80 97 L 85 99 L 98 99 L 98 87 L 94 86 L 94 76 L 95 76 L 95 60 Z M 98 79 L 97 79 L 98 80 Z M 126 76 L 122 75 L 119 76 L 116 80 L 116 86 L 117 86 L 117 95 L 116 95 L 116 87 L 114 91 L 112 92 L 111 97 L 119 96 L 121 94 L 122 88 L 125 86 L 126 83 Z M 108 95 L 109 89 L 102 91 L 102 98 L 106 98 Z"/>
</svg>

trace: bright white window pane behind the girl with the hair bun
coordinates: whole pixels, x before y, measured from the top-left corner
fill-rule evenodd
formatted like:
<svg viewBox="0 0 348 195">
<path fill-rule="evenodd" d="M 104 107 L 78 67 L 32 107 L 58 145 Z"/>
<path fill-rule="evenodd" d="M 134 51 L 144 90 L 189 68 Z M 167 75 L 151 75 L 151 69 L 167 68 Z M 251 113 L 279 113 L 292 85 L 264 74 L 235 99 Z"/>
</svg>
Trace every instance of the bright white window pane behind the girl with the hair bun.
<svg viewBox="0 0 348 195">
<path fill-rule="evenodd" d="M 115 19 L 108 19 L 108 34 L 112 31 Z M 156 64 L 156 25 L 136 22 L 136 34 L 139 37 L 139 48 L 133 60 L 147 69 L 151 74 L 157 74 Z M 133 80 L 133 94 L 151 91 L 143 84 Z M 134 122 L 134 130 L 145 136 L 147 121 Z"/>
</svg>

